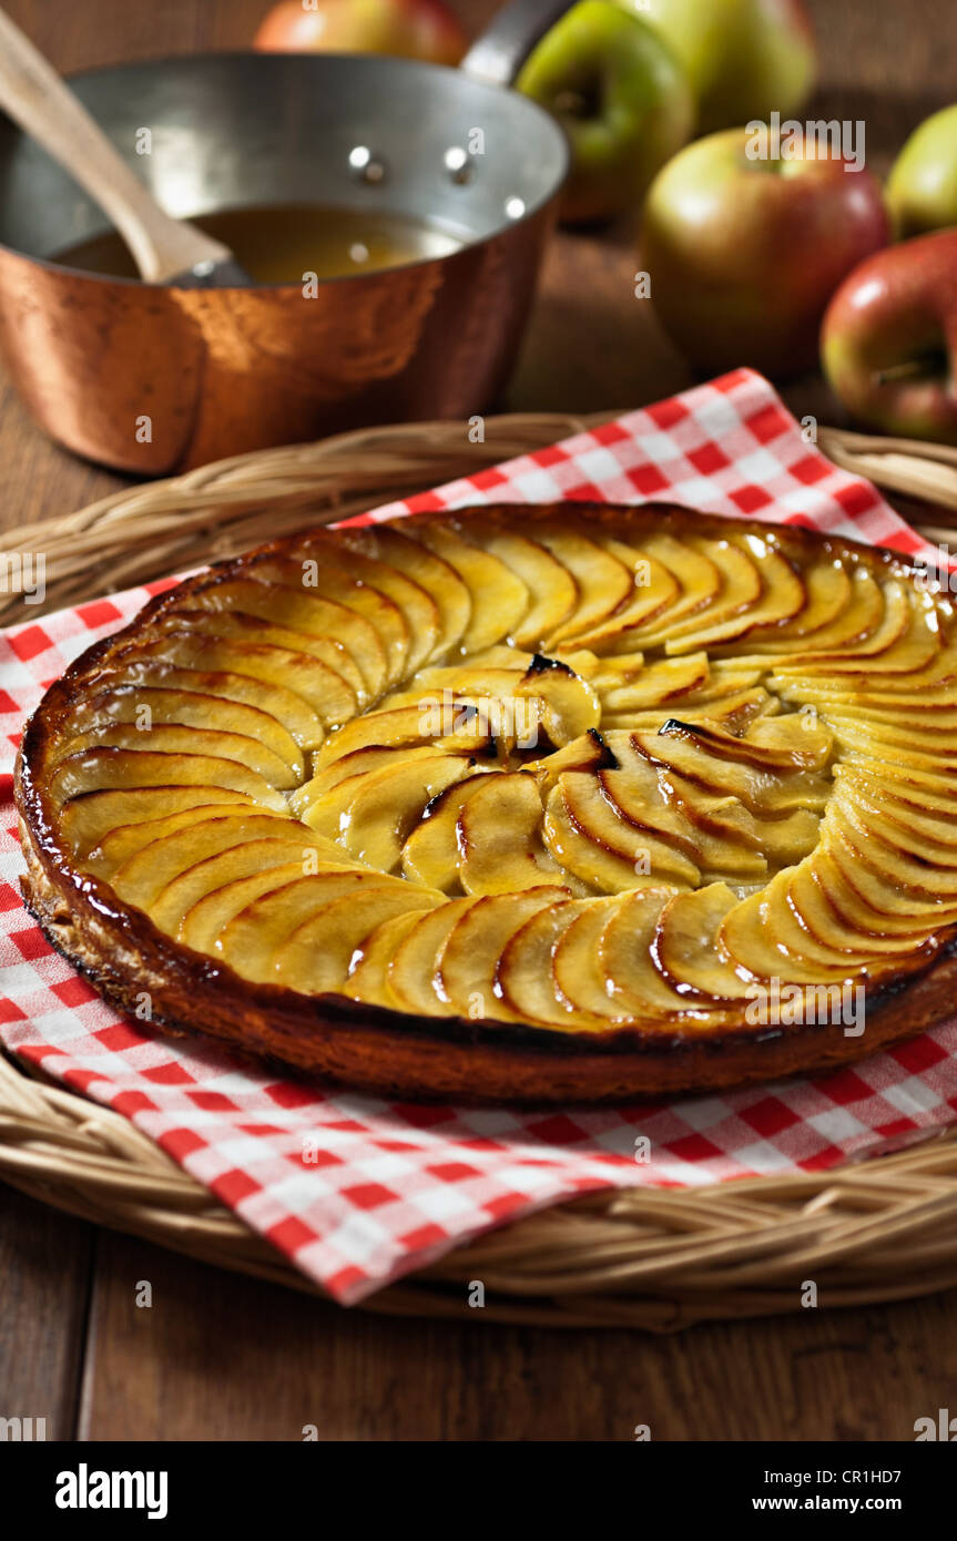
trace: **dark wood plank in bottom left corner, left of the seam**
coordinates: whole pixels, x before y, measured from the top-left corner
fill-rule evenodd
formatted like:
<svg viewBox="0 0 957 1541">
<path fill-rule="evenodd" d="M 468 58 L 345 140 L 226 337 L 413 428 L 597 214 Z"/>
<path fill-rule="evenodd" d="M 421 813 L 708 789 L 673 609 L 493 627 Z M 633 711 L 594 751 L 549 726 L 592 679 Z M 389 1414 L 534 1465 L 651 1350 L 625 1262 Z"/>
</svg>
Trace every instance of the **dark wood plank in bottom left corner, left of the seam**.
<svg viewBox="0 0 957 1541">
<path fill-rule="evenodd" d="M 0 1185 L 0 1418 L 45 1418 L 48 1439 L 76 1432 L 94 1237 Z"/>
</svg>

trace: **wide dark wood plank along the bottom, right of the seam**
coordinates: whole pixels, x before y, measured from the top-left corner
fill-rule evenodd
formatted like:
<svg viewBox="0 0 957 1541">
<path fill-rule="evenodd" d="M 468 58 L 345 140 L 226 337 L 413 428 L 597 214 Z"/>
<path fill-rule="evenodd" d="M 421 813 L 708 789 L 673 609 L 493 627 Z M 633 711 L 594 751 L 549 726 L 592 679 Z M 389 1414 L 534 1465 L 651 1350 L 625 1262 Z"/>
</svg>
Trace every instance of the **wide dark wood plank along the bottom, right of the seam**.
<svg viewBox="0 0 957 1541">
<path fill-rule="evenodd" d="M 92 1344 L 85 1439 L 911 1439 L 952 1405 L 946 1298 L 669 1338 L 391 1321 L 120 1236 Z"/>
</svg>

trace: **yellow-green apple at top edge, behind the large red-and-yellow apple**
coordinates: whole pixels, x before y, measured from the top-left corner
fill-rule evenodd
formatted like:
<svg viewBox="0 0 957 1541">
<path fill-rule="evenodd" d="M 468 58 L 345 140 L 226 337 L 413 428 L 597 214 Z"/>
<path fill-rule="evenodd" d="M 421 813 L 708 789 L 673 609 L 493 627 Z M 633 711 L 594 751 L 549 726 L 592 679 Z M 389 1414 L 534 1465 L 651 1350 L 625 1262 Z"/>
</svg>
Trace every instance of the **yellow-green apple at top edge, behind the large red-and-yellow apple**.
<svg viewBox="0 0 957 1541">
<path fill-rule="evenodd" d="M 817 49 L 801 0 L 621 0 L 687 71 L 698 134 L 797 112 L 814 89 Z"/>
</svg>

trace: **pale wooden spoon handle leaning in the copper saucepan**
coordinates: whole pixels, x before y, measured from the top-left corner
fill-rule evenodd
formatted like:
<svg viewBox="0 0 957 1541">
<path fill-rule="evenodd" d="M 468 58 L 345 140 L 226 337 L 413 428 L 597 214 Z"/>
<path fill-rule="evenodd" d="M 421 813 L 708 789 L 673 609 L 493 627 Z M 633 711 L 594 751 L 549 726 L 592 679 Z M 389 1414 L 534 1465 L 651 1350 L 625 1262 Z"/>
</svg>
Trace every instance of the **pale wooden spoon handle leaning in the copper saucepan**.
<svg viewBox="0 0 957 1541">
<path fill-rule="evenodd" d="M 146 282 L 165 284 L 197 262 L 231 256 L 222 242 L 159 206 L 69 86 L 3 11 L 0 106 L 109 216 Z"/>
</svg>

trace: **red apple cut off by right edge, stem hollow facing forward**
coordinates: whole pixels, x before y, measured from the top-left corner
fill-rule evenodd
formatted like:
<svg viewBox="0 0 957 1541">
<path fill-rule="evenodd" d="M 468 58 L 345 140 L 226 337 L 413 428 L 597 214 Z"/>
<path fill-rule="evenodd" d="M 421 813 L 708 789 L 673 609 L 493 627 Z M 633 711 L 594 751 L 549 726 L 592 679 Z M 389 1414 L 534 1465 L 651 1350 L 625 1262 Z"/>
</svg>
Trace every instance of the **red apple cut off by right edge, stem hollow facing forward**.
<svg viewBox="0 0 957 1541">
<path fill-rule="evenodd" d="M 861 262 L 828 307 L 821 364 L 869 427 L 957 444 L 957 230 Z"/>
</svg>

